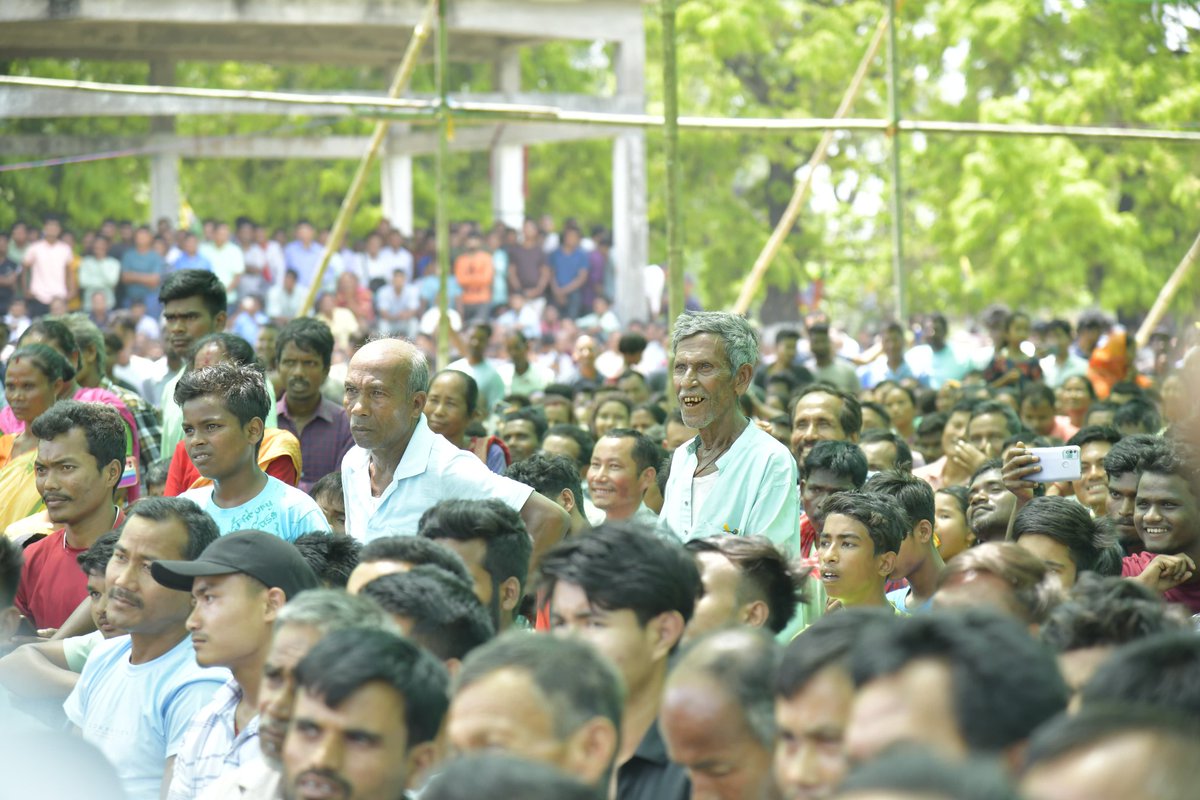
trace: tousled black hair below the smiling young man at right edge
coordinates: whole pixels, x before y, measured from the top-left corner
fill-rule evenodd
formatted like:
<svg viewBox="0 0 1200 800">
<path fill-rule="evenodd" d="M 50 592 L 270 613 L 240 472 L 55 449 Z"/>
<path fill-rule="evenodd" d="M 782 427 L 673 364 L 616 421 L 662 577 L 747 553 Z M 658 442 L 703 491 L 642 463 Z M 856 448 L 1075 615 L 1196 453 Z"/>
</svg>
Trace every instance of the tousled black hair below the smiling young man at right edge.
<svg viewBox="0 0 1200 800">
<path fill-rule="evenodd" d="M 1082 575 L 1042 624 L 1042 640 L 1058 652 L 1112 646 L 1184 630 L 1186 618 L 1134 581 Z"/>
</svg>

